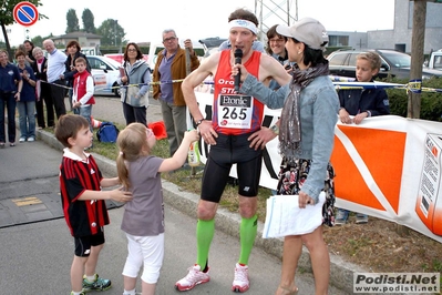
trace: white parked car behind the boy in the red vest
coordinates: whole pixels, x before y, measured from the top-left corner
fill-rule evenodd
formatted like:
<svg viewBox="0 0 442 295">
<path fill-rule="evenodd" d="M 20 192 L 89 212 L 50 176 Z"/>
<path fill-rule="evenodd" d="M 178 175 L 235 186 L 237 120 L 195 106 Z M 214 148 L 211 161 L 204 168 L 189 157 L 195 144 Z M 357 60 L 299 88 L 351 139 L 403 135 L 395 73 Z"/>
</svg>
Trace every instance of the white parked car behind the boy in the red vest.
<svg viewBox="0 0 442 295">
<path fill-rule="evenodd" d="M 120 75 L 121 63 L 102 55 L 86 55 L 91 64 L 92 77 L 95 82 L 94 94 L 120 96 L 116 79 Z"/>
</svg>

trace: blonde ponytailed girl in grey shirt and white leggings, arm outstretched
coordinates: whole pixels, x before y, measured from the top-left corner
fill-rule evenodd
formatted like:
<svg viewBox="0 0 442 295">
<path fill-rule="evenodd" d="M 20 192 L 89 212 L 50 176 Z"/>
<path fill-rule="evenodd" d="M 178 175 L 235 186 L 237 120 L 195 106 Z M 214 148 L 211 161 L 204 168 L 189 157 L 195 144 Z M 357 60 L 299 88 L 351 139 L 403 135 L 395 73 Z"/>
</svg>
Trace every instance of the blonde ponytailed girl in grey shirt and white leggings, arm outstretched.
<svg viewBox="0 0 442 295">
<path fill-rule="evenodd" d="M 173 157 L 151 154 L 156 139 L 141 123 L 127 125 L 119 134 L 120 155 L 116 159 L 119 179 L 133 200 L 124 205 L 121 228 L 127 237 L 127 258 L 123 269 L 124 293 L 135 295 L 136 277 L 143 267 L 143 295 L 154 295 L 164 257 L 164 207 L 160 173 L 183 165 L 192 142 L 198 140 L 196 130 L 186 132 Z"/>
</svg>

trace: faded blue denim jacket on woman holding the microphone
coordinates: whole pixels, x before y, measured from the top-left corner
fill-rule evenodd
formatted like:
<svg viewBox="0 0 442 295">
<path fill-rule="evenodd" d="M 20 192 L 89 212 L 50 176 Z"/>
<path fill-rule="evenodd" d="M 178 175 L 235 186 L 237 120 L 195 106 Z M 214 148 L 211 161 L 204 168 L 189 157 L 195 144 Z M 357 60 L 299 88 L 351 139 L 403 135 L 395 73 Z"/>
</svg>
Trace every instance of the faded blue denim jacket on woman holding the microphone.
<svg viewBox="0 0 442 295">
<path fill-rule="evenodd" d="M 280 109 L 290 92 L 289 84 L 274 91 L 253 75 L 247 75 L 240 93 L 249 94 L 270 109 Z M 328 75 L 316 78 L 300 95 L 301 142 L 299 159 L 312 160 L 311 169 L 301 192 L 318 202 L 323 189 L 327 165 L 335 141 L 335 125 L 338 121 L 339 100 Z"/>
</svg>

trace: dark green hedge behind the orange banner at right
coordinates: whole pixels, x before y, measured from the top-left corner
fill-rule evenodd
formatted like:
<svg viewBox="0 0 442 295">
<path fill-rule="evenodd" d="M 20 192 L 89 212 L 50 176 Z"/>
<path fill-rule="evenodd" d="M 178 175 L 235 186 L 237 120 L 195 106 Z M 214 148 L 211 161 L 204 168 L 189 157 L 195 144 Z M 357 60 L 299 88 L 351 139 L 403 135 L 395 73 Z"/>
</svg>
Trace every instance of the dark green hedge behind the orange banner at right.
<svg viewBox="0 0 442 295">
<path fill-rule="evenodd" d="M 407 84 L 408 80 L 390 79 L 383 82 Z M 422 82 L 423 88 L 442 90 L 442 78 L 432 78 Z M 408 93 L 404 89 L 387 89 L 391 114 L 407 118 Z M 420 119 L 442 122 L 442 93 L 422 92 Z"/>
</svg>

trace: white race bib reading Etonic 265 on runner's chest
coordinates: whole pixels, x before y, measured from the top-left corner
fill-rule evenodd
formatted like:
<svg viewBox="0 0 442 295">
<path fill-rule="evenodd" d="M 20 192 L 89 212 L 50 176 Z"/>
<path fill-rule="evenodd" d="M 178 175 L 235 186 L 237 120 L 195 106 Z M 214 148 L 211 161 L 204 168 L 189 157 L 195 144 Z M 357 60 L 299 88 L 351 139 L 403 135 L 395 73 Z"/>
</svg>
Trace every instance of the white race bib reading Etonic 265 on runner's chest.
<svg viewBox="0 0 442 295">
<path fill-rule="evenodd" d="M 250 129 L 254 100 L 249 95 L 220 94 L 218 98 L 218 125 Z"/>
</svg>

